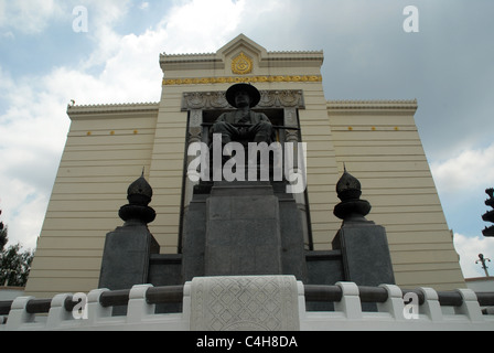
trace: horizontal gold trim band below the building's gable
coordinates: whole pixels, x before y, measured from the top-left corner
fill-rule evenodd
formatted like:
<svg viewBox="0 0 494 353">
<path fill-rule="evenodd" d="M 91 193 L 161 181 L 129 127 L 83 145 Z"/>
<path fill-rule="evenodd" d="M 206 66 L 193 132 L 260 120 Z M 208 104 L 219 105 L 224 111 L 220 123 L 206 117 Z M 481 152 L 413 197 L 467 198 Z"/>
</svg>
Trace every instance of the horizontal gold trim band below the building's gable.
<svg viewBox="0 0 494 353">
<path fill-rule="evenodd" d="M 163 86 L 181 85 L 213 85 L 213 84 L 239 84 L 239 83 L 277 83 L 277 82 L 299 82 L 311 83 L 322 82 L 321 75 L 300 76 L 247 76 L 247 77 L 203 77 L 203 78 L 164 78 Z"/>
</svg>

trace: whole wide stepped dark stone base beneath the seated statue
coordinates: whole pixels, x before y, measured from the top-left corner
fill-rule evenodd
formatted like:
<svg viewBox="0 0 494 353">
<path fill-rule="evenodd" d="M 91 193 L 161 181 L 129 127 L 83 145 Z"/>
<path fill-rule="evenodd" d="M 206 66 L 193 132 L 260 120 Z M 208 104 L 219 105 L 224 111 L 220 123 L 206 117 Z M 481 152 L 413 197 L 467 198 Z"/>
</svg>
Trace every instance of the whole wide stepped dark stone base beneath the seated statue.
<svg viewBox="0 0 494 353">
<path fill-rule="evenodd" d="M 303 229 L 291 195 L 273 182 L 202 183 L 185 214 L 183 280 L 292 275 L 305 280 Z"/>
</svg>

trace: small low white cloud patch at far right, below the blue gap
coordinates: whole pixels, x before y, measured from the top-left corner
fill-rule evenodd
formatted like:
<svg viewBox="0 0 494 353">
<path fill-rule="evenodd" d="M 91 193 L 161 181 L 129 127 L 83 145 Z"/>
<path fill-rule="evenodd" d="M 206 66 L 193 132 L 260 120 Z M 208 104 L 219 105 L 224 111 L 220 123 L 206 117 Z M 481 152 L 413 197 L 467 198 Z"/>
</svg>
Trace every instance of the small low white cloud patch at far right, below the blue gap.
<svg viewBox="0 0 494 353">
<path fill-rule="evenodd" d="M 494 276 L 494 238 L 486 237 L 469 237 L 462 234 L 454 234 L 454 247 L 460 256 L 460 266 L 465 278 L 484 277 L 485 272 L 480 264 L 479 254 L 483 254 L 486 258 L 491 258 L 492 266 L 487 270 Z"/>
</svg>

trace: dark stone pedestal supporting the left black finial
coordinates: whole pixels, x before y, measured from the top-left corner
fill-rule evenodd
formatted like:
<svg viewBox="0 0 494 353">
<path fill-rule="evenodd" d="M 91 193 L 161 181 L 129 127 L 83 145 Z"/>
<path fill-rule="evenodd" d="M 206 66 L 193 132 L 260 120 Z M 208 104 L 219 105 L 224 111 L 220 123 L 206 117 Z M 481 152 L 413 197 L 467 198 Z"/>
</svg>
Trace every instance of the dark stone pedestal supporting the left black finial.
<svg viewBox="0 0 494 353">
<path fill-rule="evenodd" d="M 160 246 L 139 221 L 128 221 L 106 236 L 99 288 L 129 289 L 149 282 L 151 254 L 159 254 Z"/>
</svg>

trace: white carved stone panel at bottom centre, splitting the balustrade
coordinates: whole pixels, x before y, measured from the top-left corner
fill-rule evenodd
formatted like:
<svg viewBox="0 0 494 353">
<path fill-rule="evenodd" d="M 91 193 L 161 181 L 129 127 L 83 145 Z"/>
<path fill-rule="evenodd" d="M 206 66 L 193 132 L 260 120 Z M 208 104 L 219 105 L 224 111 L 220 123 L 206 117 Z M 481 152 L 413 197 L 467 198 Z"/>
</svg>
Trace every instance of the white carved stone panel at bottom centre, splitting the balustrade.
<svg viewBox="0 0 494 353">
<path fill-rule="evenodd" d="M 192 331 L 298 331 L 292 276 L 198 277 L 191 284 Z"/>
</svg>

